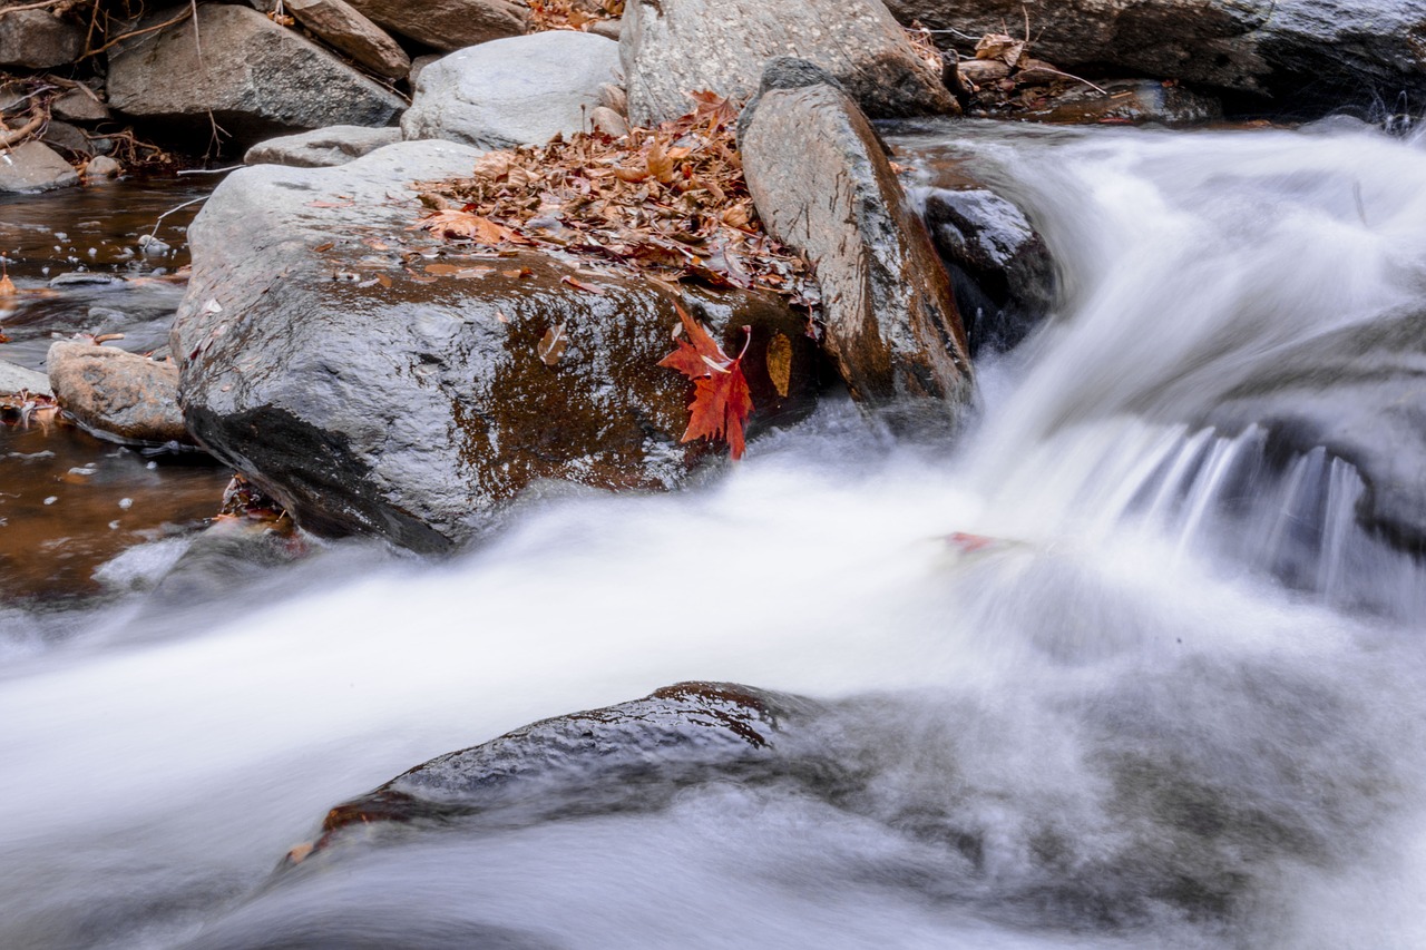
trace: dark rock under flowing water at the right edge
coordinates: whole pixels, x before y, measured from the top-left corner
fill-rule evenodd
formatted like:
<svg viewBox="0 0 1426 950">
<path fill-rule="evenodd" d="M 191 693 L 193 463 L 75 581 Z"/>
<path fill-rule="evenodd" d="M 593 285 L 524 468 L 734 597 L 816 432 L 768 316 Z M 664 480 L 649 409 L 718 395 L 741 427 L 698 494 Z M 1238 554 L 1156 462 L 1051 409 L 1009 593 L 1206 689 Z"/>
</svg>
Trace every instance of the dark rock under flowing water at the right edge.
<svg viewBox="0 0 1426 950">
<path fill-rule="evenodd" d="M 1403 311 L 1273 354 L 1202 422 L 1265 427 L 1279 449 L 1323 446 L 1368 491 L 1358 521 L 1426 551 L 1426 314 Z"/>
</svg>

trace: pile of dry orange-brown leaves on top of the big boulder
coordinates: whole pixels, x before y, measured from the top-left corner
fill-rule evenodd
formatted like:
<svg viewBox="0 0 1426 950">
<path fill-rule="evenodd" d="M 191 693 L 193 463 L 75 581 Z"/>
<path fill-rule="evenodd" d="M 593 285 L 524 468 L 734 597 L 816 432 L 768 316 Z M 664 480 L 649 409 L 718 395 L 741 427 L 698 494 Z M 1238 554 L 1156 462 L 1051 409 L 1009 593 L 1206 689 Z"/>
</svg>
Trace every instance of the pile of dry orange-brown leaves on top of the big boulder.
<svg viewBox="0 0 1426 950">
<path fill-rule="evenodd" d="M 813 310 L 811 268 L 763 233 L 753 210 L 732 131 L 737 107 L 690 97 L 693 111 L 656 130 L 486 153 L 471 178 L 421 185 L 435 211 L 416 227 L 670 282 L 767 290 Z"/>
</svg>

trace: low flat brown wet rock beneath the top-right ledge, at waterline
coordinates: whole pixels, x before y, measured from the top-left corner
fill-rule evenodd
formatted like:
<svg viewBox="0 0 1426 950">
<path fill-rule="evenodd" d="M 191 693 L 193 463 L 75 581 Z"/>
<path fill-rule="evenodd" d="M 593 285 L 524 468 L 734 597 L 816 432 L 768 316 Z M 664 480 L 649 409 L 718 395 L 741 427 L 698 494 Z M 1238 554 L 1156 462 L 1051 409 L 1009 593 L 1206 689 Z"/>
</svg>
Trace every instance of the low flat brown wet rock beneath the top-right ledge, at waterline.
<svg viewBox="0 0 1426 950">
<path fill-rule="evenodd" d="M 1218 100 L 1178 83 L 1155 80 L 1101 80 L 1099 90 L 1071 84 L 1062 91 L 1015 113 L 1020 118 L 1068 124 L 1199 126 L 1222 118 Z"/>
</svg>

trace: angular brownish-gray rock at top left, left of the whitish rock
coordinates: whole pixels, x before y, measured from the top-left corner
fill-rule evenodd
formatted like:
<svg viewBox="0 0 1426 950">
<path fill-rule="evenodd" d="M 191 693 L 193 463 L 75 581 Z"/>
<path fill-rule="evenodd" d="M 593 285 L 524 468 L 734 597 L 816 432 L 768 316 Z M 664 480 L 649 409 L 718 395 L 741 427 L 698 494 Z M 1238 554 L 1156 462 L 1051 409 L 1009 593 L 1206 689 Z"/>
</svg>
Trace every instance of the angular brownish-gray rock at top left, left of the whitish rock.
<svg viewBox="0 0 1426 950">
<path fill-rule="evenodd" d="M 173 9 L 155 14 L 158 21 L 173 16 Z M 113 56 L 110 106 L 135 118 L 202 130 L 215 121 L 238 145 L 304 128 L 385 126 L 405 106 L 250 7 L 202 4 L 197 26 L 197 37 L 188 19 Z"/>
</svg>

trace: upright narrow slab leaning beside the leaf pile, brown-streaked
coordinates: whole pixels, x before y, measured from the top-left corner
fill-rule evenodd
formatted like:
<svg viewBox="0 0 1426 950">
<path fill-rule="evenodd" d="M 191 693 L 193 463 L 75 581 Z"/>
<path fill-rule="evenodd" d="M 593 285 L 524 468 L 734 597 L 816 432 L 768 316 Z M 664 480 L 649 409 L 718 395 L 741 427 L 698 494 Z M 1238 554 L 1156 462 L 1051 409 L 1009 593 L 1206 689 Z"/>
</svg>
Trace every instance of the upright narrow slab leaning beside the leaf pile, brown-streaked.
<svg viewBox="0 0 1426 950">
<path fill-rule="evenodd" d="M 954 417 L 971 371 L 951 282 L 856 103 L 816 66 L 774 60 L 739 148 L 759 217 L 813 264 L 824 345 L 853 395 Z"/>
</svg>

